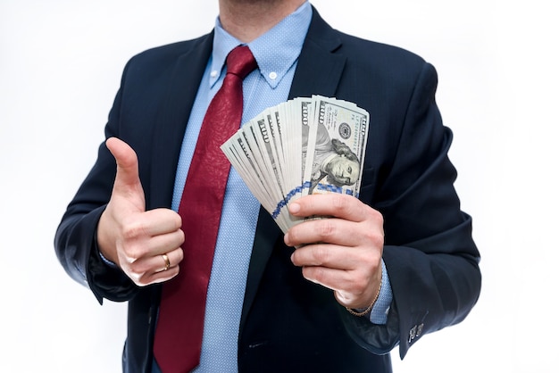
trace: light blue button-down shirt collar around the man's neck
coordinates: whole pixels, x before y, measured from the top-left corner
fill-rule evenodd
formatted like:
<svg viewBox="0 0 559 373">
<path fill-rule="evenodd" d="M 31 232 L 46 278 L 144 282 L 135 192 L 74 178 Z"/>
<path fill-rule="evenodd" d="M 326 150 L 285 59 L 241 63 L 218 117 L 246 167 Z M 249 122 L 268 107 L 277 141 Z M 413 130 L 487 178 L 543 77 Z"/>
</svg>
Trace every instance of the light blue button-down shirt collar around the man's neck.
<svg viewBox="0 0 559 373">
<path fill-rule="evenodd" d="M 307 1 L 272 29 L 248 43 L 258 63 L 260 74 L 271 88 L 280 84 L 281 79 L 299 57 L 312 17 L 312 7 Z M 210 87 L 220 79 L 229 52 L 241 44 L 243 43 L 221 27 L 218 17 L 213 33 Z"/>
</svg>

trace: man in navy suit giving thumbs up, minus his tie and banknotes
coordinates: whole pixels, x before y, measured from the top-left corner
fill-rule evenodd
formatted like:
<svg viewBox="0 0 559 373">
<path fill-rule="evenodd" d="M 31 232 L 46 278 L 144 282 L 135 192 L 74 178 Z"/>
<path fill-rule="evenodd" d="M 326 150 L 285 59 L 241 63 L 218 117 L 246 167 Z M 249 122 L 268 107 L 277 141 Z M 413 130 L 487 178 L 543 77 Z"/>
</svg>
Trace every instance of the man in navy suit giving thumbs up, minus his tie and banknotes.
<svg viewBox="0 0 559 373">
<path fill-rule="evenodd" d="M 308 32 L 294 46 L 284 34 L 301 28 Z M 284 49 L 296 50 L 279 74 L 267 70 L 271 40 L 279 43 L 268 50 L 274 63 Z M 435 104 L 429 63 L 331 29 L 304 0 L 221 0 L 211 34 L 130 60 L 108 140 L 56 232 L 58 258 L 99 302 L 129 302 L 124 371 L 158 371 L 162 286 L 179 273 L 188 240 L 175 195 L 185 149 L 197 137 L 189 131 L 207 107 L 203 94 L 215 89 L 205 80 L 222 79 L 216 51 L 228 43 L 247 44 L 258 62 L 244 85 L 269 92 L 245 101 L 248 119 L 251 110 L 317 94 L 354 102 L 371 114 L 371 126 L 359 199 L 308 195 L 289 207 L 296 216 L 333 219 L 282 236 L 257 203 L 237 214 L 224 203 L 220 235 L 229 229 L 233 238 L 216 246 L 199 371 L 390 372 L 396 345 L 404 357 L 421 336 L 462 321 L 480 294 L 471 218 L 460 211 L 447 158 L 452 135 Z M 246 193 L 232 185 L 233 174 L 227 193 Z M 243 245 L 249 250 L 238 250 Z M 235 250 L 245 264 L 221 261 Z M 233 287 L 223 294 L 215 284 Z"/>
</svg>

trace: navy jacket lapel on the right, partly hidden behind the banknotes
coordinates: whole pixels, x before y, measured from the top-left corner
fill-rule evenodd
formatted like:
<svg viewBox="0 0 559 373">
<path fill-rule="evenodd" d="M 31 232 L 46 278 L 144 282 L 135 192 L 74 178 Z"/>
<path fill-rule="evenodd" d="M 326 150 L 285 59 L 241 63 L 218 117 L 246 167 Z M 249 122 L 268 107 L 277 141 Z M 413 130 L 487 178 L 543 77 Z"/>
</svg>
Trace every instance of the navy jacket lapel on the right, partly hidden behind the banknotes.
<svg viewBox="0 0 559 373">
<path fill-rule="evenodd" d="M 336 94 L 338 82 L 346 63 L 346 57 L 343 54 L 334 54 L 340 45 L 338 33 L 331 29 L 313 8 L 313 21 L 311 21 L 305 44 L 299 55 L 289 98 L 311 95 L 334 96 Z M 321 63 L 316 63 L 317 61 Z M 270 214 L 261 207 L 246 279 L 245 302 L 240 321 L 241 331 L 254 302 L 271 251 L 279 240 L 281 240 L 280 228 L 271 219 Z"/>
</svg>

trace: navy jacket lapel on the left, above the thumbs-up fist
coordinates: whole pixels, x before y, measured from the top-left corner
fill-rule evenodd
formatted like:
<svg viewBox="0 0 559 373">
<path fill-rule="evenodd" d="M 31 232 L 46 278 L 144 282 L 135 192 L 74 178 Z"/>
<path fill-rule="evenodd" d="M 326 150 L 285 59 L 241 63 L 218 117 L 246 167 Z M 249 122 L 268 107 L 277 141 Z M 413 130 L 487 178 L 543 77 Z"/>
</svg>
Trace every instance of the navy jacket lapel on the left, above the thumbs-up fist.
<svg viewBox="0 0 559 373">
<path fill-rule="evenodd" d="M 195 46 L 179 56 L 171 73 L 154 129 L 151 201 L 146 201 L 149 208 L 171 207 L 182 138 L 212 45 L 213 33 L 199 38 Z"/>
</svg>

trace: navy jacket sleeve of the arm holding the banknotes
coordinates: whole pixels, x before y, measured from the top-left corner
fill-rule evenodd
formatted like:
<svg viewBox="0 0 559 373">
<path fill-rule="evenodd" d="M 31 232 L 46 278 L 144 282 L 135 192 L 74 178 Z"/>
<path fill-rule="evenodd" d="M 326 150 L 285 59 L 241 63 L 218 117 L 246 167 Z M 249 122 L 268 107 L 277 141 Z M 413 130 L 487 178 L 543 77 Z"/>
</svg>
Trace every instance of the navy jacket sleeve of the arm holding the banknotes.
<svg viewBox="0 0 559 373">
<path fill-rule="evenodd" d="M 391 135 L 382 141 L 391 145 L 376 144 L 393 156 L 371 161 L 374 166 L 364 170 L 369 175 L 363 180 L 375 180 L 364 202 L 385 221 L 383 259 L 394 295 L 388 323 L 371 326 L 343 316 L 358 344 L 375 353 L 399 344 L 402 358 L 421 336 L 462 321 L 477 302 L 481 282 L 471 217 L 460 209 L 456 171 L 447 157 L 452 132 L 435 103 L 437 73 L 429 63 L 421 66 L 409 103 L 395 100 L 405 108 L 401 129 L 383 131 Z M 370 135 L 376 136 L 375 129 Z M 374 148 L 368 152 L 378 155 Z"/>
</svg>

